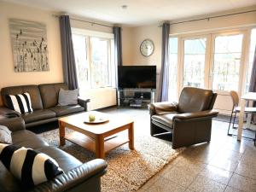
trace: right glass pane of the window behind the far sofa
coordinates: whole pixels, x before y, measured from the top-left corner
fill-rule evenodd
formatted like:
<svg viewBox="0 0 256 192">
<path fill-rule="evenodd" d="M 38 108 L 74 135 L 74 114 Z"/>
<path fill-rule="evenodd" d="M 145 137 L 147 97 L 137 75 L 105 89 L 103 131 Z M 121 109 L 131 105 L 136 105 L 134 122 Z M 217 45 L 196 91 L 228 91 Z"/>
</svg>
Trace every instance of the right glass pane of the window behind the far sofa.
<svg viewBox="0 0 256 192">
<path fill-rule="evenodd" d="M 93 87 L 110 85 L 108 49 L 109 40 L 90 38 L 91 42 L 91 84 Z"/>
</svg>

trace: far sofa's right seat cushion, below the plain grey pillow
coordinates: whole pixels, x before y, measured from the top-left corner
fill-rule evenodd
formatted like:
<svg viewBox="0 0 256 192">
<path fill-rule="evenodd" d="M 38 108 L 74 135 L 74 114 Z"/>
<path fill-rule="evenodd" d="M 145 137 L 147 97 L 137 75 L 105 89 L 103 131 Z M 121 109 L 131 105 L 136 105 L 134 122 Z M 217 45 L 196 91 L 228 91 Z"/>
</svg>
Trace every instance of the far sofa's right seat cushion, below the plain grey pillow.
<svg viewBox="0 0 256 192">
<path fill-rule="evenodd" d="M 67 115 L 70 113 L 79 113 L 84 111 L 84 108 L 80 105 L 67 105 L 67 106 L 56 106 L 55 108 L 49 108 L 56 113 L 57 117 Z"/>
</svg>

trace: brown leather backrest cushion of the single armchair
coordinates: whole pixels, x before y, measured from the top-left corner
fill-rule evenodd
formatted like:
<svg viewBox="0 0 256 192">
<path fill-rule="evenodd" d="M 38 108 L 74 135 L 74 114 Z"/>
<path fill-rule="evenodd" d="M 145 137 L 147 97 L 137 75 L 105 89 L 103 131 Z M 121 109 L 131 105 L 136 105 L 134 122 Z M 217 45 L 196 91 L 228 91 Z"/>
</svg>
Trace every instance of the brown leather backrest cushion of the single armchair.
<svg viewBox="0 0 256 192">
<path fill-rule="evenodd" d="M 213 92 L 195 87 L 184 87 L 179 97 L 178 113 L 193 113 L 211 108 Z"/>
</svg>

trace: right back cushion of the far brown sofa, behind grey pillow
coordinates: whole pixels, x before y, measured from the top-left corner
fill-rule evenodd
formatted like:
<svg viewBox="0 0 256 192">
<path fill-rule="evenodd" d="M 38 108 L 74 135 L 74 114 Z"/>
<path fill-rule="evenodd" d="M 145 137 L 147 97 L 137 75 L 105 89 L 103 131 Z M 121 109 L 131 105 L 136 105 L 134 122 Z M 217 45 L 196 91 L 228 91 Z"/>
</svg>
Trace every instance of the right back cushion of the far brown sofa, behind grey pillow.
<svg viewBox="0 0 256 192">
<path fill-rule="evenodd" d="M 59 100 L 59 91 L 62 88 L 63 90 L 68 90 L 67 84 L 39 84 L 38 85 L 40 94 L 42 96 L 42 102 L 44 108 L 53 108 L 58 104 Z"/>
</svg>

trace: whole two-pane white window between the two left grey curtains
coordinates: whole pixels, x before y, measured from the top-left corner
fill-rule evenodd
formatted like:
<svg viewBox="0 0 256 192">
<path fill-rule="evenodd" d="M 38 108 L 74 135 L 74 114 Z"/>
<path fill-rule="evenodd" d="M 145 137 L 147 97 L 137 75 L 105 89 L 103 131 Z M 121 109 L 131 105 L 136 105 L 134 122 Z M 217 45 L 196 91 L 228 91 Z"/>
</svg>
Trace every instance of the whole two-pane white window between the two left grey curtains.
<svg viewBox="0 0 256 192">
<path fill-rule="evenodd" d="M 73 30 L 73 49 L 79 87 L 90 89 L 114 85 L 113 38 Z"/>
</svg>

